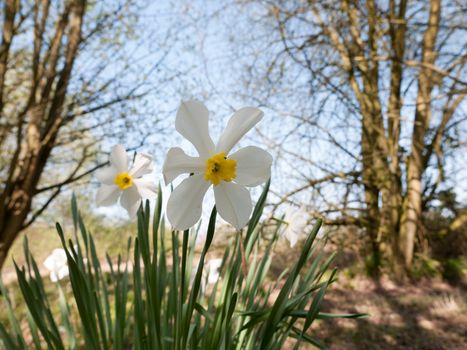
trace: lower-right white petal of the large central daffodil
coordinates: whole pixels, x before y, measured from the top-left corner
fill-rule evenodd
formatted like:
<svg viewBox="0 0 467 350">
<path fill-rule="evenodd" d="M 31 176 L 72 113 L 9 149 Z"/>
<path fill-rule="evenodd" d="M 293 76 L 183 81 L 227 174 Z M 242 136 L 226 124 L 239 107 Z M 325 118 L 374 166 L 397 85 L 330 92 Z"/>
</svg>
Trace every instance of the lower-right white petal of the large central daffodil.
<svg viewBox="0 0 467 350">
<path fill-rule="evenodd" d="M 250 192 L 233 182 L 221 182 L 214 186 L 214 197 L 219 215 L 237 230 L 243 228 L 251 214 Z"/>
</svg>

